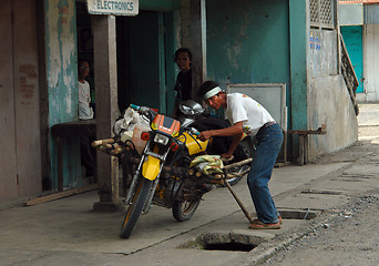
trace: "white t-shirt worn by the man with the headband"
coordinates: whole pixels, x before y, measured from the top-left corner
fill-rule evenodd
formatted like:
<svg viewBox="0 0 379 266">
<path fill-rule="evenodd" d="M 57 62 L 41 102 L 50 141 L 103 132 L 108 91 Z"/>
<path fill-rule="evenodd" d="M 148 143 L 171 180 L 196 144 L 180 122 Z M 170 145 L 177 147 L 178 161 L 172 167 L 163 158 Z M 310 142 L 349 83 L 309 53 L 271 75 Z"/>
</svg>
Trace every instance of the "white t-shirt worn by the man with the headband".
<svg viewBox="0 0 379 266">
<path fill-rule="evenodd" d="M 268 122 L 275 122 L 267 110 L 252 98 L 238 92 L 226 95 L 226 116 L 232 124 L 243 121 L 244 133 L 255 135 Z"/>
</svg>

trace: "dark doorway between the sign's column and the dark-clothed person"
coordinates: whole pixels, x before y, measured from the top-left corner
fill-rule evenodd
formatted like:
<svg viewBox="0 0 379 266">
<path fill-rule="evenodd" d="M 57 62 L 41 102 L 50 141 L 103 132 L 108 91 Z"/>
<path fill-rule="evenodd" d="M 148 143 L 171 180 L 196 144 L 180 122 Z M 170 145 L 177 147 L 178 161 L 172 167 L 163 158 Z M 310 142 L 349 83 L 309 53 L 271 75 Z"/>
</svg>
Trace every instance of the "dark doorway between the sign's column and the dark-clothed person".
<svg viewBox="0 0 379 266">
<path fill-rule="evenodd" d="M 120 111 L 134 103 L 166 113 L 164 13 L 141 11 L 136 17 L 117 17 L 116 27 Z"/>
</svg>

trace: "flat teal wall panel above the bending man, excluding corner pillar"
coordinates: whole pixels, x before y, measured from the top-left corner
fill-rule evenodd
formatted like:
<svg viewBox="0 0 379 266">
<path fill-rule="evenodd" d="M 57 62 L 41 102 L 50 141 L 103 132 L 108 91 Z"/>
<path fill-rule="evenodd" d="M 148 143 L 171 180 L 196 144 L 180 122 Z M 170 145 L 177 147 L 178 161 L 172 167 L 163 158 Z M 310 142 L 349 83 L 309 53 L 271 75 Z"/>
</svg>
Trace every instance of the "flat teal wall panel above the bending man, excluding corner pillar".
<svg viewBox="0 0 379 266">
<path fill-rule="evenodd" d="M 288 85 L 287 1 L 207 0 L 206 10 L 208 79 Z"/>
</svg>

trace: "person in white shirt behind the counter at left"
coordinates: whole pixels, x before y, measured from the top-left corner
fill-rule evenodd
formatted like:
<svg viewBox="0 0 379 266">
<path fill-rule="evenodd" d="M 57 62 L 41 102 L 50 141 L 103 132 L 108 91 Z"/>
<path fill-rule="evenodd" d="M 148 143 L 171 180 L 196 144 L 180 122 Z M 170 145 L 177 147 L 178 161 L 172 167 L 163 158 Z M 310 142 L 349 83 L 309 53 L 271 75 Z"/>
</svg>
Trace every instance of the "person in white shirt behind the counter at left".
<svg viewBox="0 0 379 266">
<path fill-rule="evenodd" d="M 93 119 L 93 109 L 91 103 L 90 83 L 85 78 L 90 74 L 90 64 L 82 60 L 78 63 L 78 92 L 79 92 L 79 108 L 78 116 L 80 120 Z M 85 176 L 93 176 L 93 155 L 91 152 L 91 140 L 89 135 L 80 136 L 80 153 L 81 164 L 85 167 Z"/>
</svg>

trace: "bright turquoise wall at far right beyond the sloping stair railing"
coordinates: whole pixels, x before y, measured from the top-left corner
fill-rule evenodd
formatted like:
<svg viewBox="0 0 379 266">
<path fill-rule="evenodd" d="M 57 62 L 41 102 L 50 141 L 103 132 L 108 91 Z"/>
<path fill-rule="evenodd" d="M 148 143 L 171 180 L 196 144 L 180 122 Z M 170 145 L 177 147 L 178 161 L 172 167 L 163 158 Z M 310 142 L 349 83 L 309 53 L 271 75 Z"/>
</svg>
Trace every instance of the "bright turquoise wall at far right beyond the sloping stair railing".
<svg viewBox="0 0 379 266">
<path fill-rule="evenodd" d="M 359 80 L 357 93 L 363 92 L 363 41 L 362 25 L 341 27 L 346 49 L 348 50 L 354 70 Z"/>
</svg>

